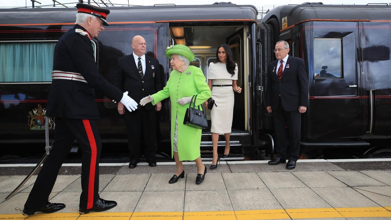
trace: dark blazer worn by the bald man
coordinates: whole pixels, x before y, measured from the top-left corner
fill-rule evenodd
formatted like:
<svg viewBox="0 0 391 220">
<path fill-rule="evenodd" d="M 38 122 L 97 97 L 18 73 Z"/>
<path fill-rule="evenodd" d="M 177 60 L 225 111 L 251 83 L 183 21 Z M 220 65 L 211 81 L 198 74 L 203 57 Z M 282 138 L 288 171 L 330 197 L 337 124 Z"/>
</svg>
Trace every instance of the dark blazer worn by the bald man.
<svg viewBox="0 0 391 220">
<path fill-rule="evenodd" d="M 117 71 L 115 74 L 115 86 L 123 92 L 128 91 L 128 96 L 140 103 L 143 97 L 152 95 L 163 89 L 160 81 L 159 61 L 155 58 L 145 55 L 145 74 L 143 77 L 138 74 L 133 53 L 118 58 Z M 140 104 L 137 106 L 142 108 Z M 145 109 L 154 109 L 155 107 L 148 103 Z"/>
</svg>

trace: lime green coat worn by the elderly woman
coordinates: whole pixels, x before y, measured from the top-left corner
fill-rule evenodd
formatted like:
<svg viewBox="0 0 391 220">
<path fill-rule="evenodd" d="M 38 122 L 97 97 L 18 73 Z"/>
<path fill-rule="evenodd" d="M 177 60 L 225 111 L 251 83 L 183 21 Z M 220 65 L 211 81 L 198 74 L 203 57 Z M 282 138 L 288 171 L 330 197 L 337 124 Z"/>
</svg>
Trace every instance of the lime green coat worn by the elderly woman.
<svg viewBox="0 0 391 220">
<path fill-rule="evenodd" d="M 197 96 L 195 106 L 203 104 L 210 98 L 212 92 L 206 84 L 202 70 L 189 66 L 183 73 L 172 70 L 167 85 L 159 92 L 152 95 L 152 104 L 170 97 L 171 101 L 171 155 L 174 151 L 175 117 L 178 115 L 178 156 L 179 160 L 195 160 L 201 156 L 201 129 L 183 125 L 186 109 L 190 103 L 180 105 L 178 99 L 188 96 Z"/>
</svg>

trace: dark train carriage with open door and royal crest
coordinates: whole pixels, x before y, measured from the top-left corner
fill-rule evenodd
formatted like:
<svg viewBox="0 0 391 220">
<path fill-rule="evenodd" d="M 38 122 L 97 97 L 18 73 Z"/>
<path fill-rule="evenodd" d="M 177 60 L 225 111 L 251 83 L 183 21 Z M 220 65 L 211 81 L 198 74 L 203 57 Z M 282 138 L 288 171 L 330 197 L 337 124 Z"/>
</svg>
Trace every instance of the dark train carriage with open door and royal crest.
<svg viewBox="0 0 391 220">
<path fill-rule="evenodd" d="M 216 59 L 217 46 L 228 43 L 239 66 L 231 146 L 242 153 L 256 146 L 255 36 L 257 10 L 251 5 L 159 5 L 110 7 L 109 27 L 95 39 L 100 74 L 113 81 L 117 59 L 132 52 L 131 39 L 142 35 L 147 51 L 163 65 L 162 81 L 169 77 L 169 60 L 164 52 L 172 44 L 186 44 L 196 55 L 192 65 L 207 75 L 208 64 Z M 47 95 L 51 82 L 56 41 L 75 22 L 76 8 L 0 9 L 0 143 L 44 142 Z M 107 97 L 96 91 L 104 142 L 126 143 L 123 118 Z M 159 113 L 159 146 L 169 146 L 170 106 Z M 50 121 L 50 129 L 53 124 Z M 208 129 L 203 132 L 204 154 L 212 150 Z M 106 145 L 107 146 L 107 145 Z M 169 149 L 169 148 L 168 148 Z M 165 150 L 167 153 L 170 150 Z M 164 151 L 164 150 L 163 150 Z"/>
</svg>

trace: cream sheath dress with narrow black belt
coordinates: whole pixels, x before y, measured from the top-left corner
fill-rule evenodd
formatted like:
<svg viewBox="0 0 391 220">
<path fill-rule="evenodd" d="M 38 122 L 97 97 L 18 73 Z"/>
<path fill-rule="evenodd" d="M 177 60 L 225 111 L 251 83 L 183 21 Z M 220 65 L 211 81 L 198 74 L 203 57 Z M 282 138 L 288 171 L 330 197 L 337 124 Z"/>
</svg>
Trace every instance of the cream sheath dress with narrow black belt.
<svg viewBox="0 0 391 220">
<path fill-rule="evenodd" d="M 226 63 L 210 63 L 208 67 L 208 79 L 213 79 L 212 85 L 232 85 L 232 80 L 238 79 L 238 66 L 232 76 L 226 67 Z M 233 104 L 235 102 L 232 86 L 213 87 L 212 99 L 217 106 L 210 110 L 210 119 L 213 133 L 231 133 Z"/>
</svg>

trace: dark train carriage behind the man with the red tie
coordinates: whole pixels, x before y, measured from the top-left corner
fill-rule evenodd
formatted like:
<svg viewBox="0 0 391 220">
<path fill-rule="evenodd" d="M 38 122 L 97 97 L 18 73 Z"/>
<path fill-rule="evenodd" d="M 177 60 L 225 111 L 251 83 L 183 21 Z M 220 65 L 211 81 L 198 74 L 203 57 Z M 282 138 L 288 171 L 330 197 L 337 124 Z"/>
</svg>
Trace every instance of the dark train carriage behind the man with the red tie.
<svg viewBox="0 0 391 220">
<path fill-rule="evenodd" d="M 307 65 L 310 106 L 302 115 L 302 146 L 368 146 L 371 139 L 391 138 L 390 14 L 390 5 L 303 3 L 264 16 L 262 70 L 275 59 L 279 40 Z M 261 115 L 261 127 L 270 128 L 269 116 Z"/>
</svg>

